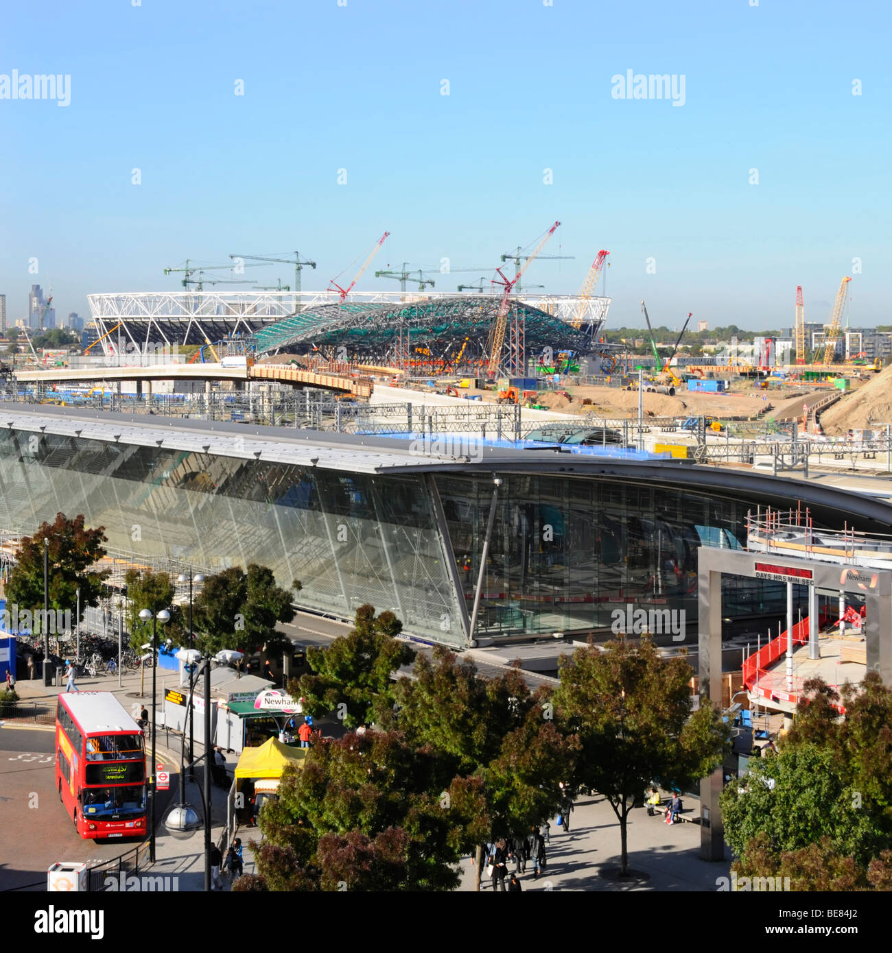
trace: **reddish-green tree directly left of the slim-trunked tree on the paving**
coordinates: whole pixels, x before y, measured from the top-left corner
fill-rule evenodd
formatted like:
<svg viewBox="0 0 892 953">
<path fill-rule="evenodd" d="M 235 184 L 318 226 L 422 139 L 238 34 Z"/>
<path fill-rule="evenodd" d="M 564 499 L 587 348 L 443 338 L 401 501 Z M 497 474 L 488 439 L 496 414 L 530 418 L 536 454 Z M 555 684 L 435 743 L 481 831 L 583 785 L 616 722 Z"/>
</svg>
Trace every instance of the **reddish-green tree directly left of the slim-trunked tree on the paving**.
<svg viewBox="0 0 892 953">
<path fill-rule="evenodd" d="M 450 809 L 468 819 L 462 846 L 476 852 L 480 888 L 483 843 L 529 831 L 552 816 L 570 777 L 574 742 L 551 720 L 549 690 L 530 692 L 519 669 L 484 679 L 470 661 L 443 648 L 420 655 L 413 678 L 395 689 L 397 723 L 412 744 L 437 751 Z"/>
</svg>

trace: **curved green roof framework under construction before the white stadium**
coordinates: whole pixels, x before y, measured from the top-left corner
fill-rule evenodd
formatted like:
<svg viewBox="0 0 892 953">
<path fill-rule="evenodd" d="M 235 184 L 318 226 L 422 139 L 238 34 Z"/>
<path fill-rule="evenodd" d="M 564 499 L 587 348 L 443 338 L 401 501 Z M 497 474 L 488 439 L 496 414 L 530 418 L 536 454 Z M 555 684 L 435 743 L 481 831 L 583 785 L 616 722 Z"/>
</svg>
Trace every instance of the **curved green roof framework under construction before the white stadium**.
<svg viewBox="0 0 892 953">
<path fill-rule="evenodd" d="M 430 355 L 446 358 L 460 350 L 466 339 L 472 350 L 483 347 L 499 302 L 495 296 L 466 294 L 415 301 L 322 304 L 267 325 L 255 334 L 255 342 L 259 354 L 295 345 L 343 344 L 351 352 L 384 356 L 395 340 L 405 335 L 410 352 L 423 348 Z M 590 349 L 591 324 L 573 328 L 562 317 L 523 300 L 511 305 L 509 320 L 515 319 L 524 323 L 528 349 Z"/>
</svg>

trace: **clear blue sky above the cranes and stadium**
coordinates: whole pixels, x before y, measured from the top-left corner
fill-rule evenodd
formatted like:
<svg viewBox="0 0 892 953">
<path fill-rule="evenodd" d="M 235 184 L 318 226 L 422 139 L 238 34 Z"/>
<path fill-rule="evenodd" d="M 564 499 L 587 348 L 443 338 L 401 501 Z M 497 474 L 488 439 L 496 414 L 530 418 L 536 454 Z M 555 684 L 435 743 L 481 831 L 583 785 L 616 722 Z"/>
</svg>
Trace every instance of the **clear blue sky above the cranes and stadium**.
<svg viewBox="0 0 892 953">
<path fill-rule="evenodd" d="M 135 2 L 4 10 L 0 74 L 71 75 L 67 107 L 0 99 L 10 323 L 35 281 L 89 314 L 178 289 L 186 257 L 299 249 L 322 289 L 385 230 L 357 287 L 396 290 L 375 268 L 494 267 L 555 219 L 546 253 L 575 259 L 526 280 L 572 294 L 610 250 L 613 326 L 642 298 L 657 324 L 789 326 L 799 284 L 824 321 L 855 258 L 852 325 L 892 323 L 888 4 Z M 628 70 L 683 76 L 684 105 L 613 98 Z"/>
</svg>

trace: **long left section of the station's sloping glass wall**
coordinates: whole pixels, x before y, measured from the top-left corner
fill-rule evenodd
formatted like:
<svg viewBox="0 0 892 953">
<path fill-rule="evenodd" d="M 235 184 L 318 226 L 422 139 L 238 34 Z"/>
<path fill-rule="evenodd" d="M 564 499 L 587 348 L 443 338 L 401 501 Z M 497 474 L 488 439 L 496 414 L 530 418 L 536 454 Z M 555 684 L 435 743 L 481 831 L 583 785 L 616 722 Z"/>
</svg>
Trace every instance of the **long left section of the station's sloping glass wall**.
<svg viewBox="0 0 892 953">
<path fill-rule="evenodd" d="M 352 618 L 369 602 L 406 630 L 464 643 L 424 476 L 368 476 L 64 436 L 0 433 L 0 523 L 56 513 L 114 549 L 218 571 L 269 566 L 299 604 Z"/>
</svg>

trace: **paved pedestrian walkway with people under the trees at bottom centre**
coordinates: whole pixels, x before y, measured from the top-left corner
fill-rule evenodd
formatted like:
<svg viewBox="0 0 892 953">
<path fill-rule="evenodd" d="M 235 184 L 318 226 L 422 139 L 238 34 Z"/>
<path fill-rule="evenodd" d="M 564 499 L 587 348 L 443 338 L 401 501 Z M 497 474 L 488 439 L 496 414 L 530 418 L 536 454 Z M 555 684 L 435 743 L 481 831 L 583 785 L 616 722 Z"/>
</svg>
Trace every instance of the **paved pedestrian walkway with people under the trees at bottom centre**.
<svg viewBox="0 0 892 953">
<path fill-rule="evenodd" d="M 698 818 L 699 801 L 684 798 L 683 802 L 683 816 Z M 627 882 L 603 876 L 604 871 L 618 868 L 620 860 L 619 821 L 605 798 L 595 795 L 575 801 L 570 833 L 556 826 L 555 820 L 550 822 L 545 872 L 533 878 L 532 863 L 527 862 L 527 873 L 518 876 L 524 890 L 709 891 L 716 890 L 717 878 L 729 876 L 730 852 L 726 861 L 701 861 L 699 824 L 667 824 L 662 811 L 648 817 L 641 807 L 629 816 L 629 868 L 646 878 Z M 509 861 L 508 873 L 513 870 L 514 862 Z M 469 858 L 462 861 L 461 873 L 459 889 L 473 890 L 474 865 Z M 486 870 L 481 888 L 491 890 Z"/>
</svg>

